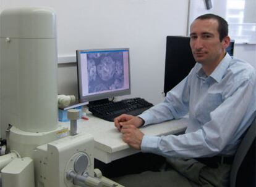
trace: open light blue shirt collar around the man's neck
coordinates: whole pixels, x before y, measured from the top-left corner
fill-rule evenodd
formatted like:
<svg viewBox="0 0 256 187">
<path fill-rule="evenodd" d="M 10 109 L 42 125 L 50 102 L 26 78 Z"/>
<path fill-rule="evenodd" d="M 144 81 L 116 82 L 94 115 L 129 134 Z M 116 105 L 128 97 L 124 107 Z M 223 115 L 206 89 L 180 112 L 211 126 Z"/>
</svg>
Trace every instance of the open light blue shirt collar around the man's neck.
<svg viewBox="0 0 256 187">
<path fill-rule="evenodd" d="M 215 70 L 210 74 L 210 77 L 215 79 L 216 82 L 220 82 L 224 76 L 224 73 L 226 73 L 226 70 L 228 69 L 231 59 L 232 58 L 230 57 L 230 55 L 226 53 L 225 57 L 221 60 Z M 203 71 L 202 67 L 197 71 L 197 75 L 201 78 L 207 78 L 207 75 Z"/>
</svg>

